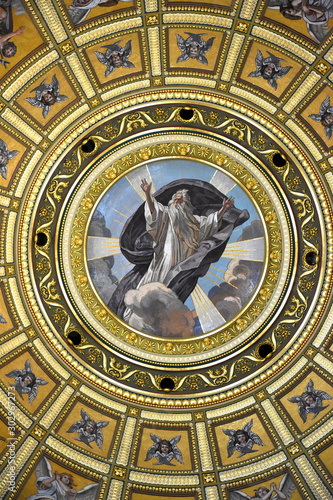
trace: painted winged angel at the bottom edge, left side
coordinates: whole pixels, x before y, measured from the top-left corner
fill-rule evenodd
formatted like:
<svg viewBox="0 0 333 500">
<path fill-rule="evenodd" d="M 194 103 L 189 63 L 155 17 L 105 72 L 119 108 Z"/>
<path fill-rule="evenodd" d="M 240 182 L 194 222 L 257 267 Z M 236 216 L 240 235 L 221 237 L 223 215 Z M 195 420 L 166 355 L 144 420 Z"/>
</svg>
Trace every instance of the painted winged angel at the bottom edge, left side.
<svg viewBox="0 0 333 500">
<path fill-rule="evenodd" d="M 74 478 L 67 472 L 52 472 L 52 466 L 46 457 L 42 457 L 36 466 L 37 493 L 26 500 L 96 500 L 98 484 L 88 484 L 80 491 L 73 488 Z"/>
</svg>

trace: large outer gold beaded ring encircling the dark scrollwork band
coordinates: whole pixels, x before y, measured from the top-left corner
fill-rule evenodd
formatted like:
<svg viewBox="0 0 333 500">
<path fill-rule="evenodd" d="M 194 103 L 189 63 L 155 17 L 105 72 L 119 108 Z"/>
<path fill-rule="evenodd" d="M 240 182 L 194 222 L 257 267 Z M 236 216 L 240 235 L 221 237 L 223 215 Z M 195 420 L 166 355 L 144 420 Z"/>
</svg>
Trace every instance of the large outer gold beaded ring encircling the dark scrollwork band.
<svg viewBox="0 0 333 500">
<path fill-rule="evenodd" d="M 304 342 L 309 338 L 310 334 L 314 331 L 314 329 L 318 326 L 320 318 L 322 317 L 322 312 L 325 311 L 325 308 L 328 304 L 328 300 L 330 297 L 330 291 L 332 289 L 332 274 L 331 274 L 331 262 L 332 262 L 332 250 L 330 247 L 327 248 L 327 244 L 329 238 L 332 237 L 332 210 L 330 197 L 327 193 L 327 185 L 320 178 L 320 174 L 316 172 L 314 167 L 311 164 L 311 159 L 306 153 L 306 150 L 300 148 L 299 144 L 295 142 L 294 139 L 290 137 L 289 134 L 279 126 L 278 123 L 273 122 L 264 115 L 262 115 L 258 110 L 251 108 L 250 106 L 245 105 L 244 103 L 239 103 L 235 99 L 229 98 L 221 98 L 215 94 L 203 94 L 201 92 L 193 92 L 193 94 L 188 94 L 181 91 L 169 91 L 168 94 L 165 92 L 156 92 L 146 93 L 145 101 L 147 102 L 147 106 L 151 106 L 151 101 L 154 99 L 160 98 L 160 103 L 168 100 L 170 105 L 179 105 L 179 99 L 183 99 L 184 101 L 188 101 L 191 105 L 198 106 L 201 105 L 201 101 L 203 96 L 205 97 L 205 106 L 210 107 L 211 109 L 216 110 L 216 108 L 221 111 L 231 111 L 233 115 L 238 118 L 249 122 L 249 125 L 254 127 L 258 127 L 259 130 L 265 131 L 269 134 L 272 140 L 275 140 L 277 147 L 287 155 L 290 155 L 291 161 L 296 162 L 299 168 L 303 171 L 303 175 L 305 176 L 306 183 L 314 196 L 316 201 L 316 207 L 318 210 L 319 216 L 319 224 L 326 238 L 324 237 L 322 242 L 324 245 L 323 254 L 326 255 L 327 250 L 327 260 L 326 267 L 320 266 L 320 282 L 321 284 L 324 282 L 324 287 L 321 287 L 318 291 L 318 294 L 315 299 L 316 308 L 312 311 L 311 317 L 309 315 L 305 318 L 305 324 L 303 324 L 303 331 L 298 331 L 296 339 L 294 338 L 293 343 L 289 343 L 286 346 L 286 349 L 283 350 L 282 355 L 279 360 L 276 360 L 276 363 L 271 364 L 269 368 L 261 364 L 257 369 L 256 373 L 253 376 L 247 377 L 244 381 L 239 381 L 233 387 L 229 386 L 228 388 L 224 388 L 217 390 L 217 393 L 214 396 L 207 396 L 205 399 L 201 396 L 195 397 L 192 399 L 185 398 L 183 399 L 181 396 L 180 399 L 177 397 L 172 397 L 171 395 L 168 398 L 160 398 L 151 397 L 151 395 L 142 395 L 140 390 L 140 395 L 138 395 L 138 391 L 135 388 L 132 388 L 130 392 L 127 391 L 120 383 L 113 380 L 111 383 L 105 380 L 103 375 L 97 374 L 96 370 L 90 367 L 87 368 L 85 363 L 81 363 L 75 357 L 73 358 L 73 351 L 69 350 L 68 347 L 61 339 L 61 335 L 54 329 L 54 326 L 51 325 L 47 320 L 47 315 L 45 313 L 45 309 L 41 306 L 38 300 L 36 301 L 36 295 L 38 296 L 37 286 L 34 278 L 29 272 L 29 267 L 31 265 L 31 259 L 28 259 L 28 248 L 29 242 L 33 238 L 32 234 L 32 225 L 29 224 L 31 218 L 34 218 L 37 213 L 36 202 L 41 198 L 39 194 L 41 192 L 41 187 L 43 182 L 45 181 L 47 173 L 50 173 L 50 170 L 55 171 L 59 165 L 59 162 L 65 157 L 65 155 L 69 152 L 69 149 L 73 146 L 73 143 L 77 143 L 79 137 L 85 136 L 87 132 L 92 131 L 96 124 L 101 125 L 109 120 L 110 115 L 113 117 L 117 117 L 123 113 L 124 108 L 131 110 L 137 110 L 137 107 L 141 107 L 142 96 L 132 97 L 131 99 L 123 99 L 119 100 L 117 103 L 117 108 L 114 104 L 104 106 L 103 109 L 99 109 L 89 115 L 86 120 L 81 121 L 79 124 L 74 126 L 70 134 L 67 134 L 63 137 L 61 145 L 54 148 L 41 162 L 40 169 L 37 173 L 37 176 L 27 192 L 27 197 L 22 208 L 22 214 L 20 218 L 20 223 L 18 226 L 18 265 L 20 268 L 20 276 L 22 278 L 22 286 L 24 291 L 24 301 L 28 304 L 30 313 L 40 331 L 43 331 L 43 336 L 45 340 L 53 346 L 53 349 L 59 353 L 59 357 L 62 362 L 66 365 L 69 365 L 72 370 L 74 370 L 80 377 L 85 380 L 89 380 L 90 383 L 94 384 L 96 387 L 103 388 L 109 394 L 117 395 L 117 397 L 123 398 L 125 400 L 131 401 L 139 401 L 142 404 L 147 404 L 149 406 L 161 406 L 165 407 L 168 405 L 169 407 L 197 407 L 200 405 L 208 405 L 214 404 L 218 401 L 228 401 L 234 397 L 238 397 L 240 393 L 246 394 L 248 391 L 252 390 L 254 387 L 261 386 L 264 380 L 269 380 L 273 377 L 274 373 L 277 374 L 280 370 L 285 367 L 286 364 L 290 363 L 291 360 L 295 359 L 295 356 L 299 353 L 300 349 L 304 345 Z M 141 99 L 141 100 L 140 100 Z M 182 104 L 184 105 L 184 104 Z M 256 123 L 257 122 L 257 123 Z M 246 125 L 249 128 L 248 125 Z M 250 142 L 247 139 L 247 142 Z M 288 162 L 289 164 L 289 162 Z M 288 165 L 287 165 L 288 167 Z M 303 168 L 302 168 L 303 167 Z M 289 167 L 288 167 L 289 168 Z M 286 184 L 287 181 L 287 170 L 285 168 L 285 173 L 283 173 L 283 181 Z M 296 194 L 296 193 L 295 193 Z M 297 193 L 298 194 L 298 193 Z M 324 220 L 325 218 L 325 220 Z M 305 225 L 305 217 L 304 217 L 304 230 L 306 229 Z M 305 241 L 305 243 L 308 243 Z M 29 264 L 28 264 L 29 261 Z M 317 266 L 318 268 L 319 266 Z M 326 269 L 326 272 L 325 272 Z M 35 292 L 35 293 L 34 293 Z M 45 319 L 44 319 L 45 318 Z M 297 319 L 299 321 L 300 318 Z M 296 341 L 295 341 L 296 340 Z M 115 384 L 115 385 L 114 385 Z"/>
</svg>

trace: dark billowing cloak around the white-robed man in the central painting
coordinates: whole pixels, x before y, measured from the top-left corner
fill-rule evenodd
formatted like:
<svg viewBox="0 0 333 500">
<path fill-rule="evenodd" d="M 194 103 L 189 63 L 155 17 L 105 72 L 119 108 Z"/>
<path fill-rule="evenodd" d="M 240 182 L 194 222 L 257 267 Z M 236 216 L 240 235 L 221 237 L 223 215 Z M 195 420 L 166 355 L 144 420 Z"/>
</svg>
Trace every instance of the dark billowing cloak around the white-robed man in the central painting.
<svg viewBox="0 0 333 500">
<path fill-rule="evenodd" d="M 226 198 L 212 184 L 197 179 L 172 181 L 156 191 L 154 198 L 167 206 L 172 196 L 180 189 L 188 190 L 194 206 L 193 213 L 199 216 L 208 216 L 219 211 Z M 210 264 L 220 259 L 234 228 L 243 224 L 248 218 L 247 210 L 239 210 L 236 207 L 228 208 L 220 220 L 218 231 L 202 241 L 193 255 L 174 266 L 167 274 L 164 284 L 173 290 L 182 302 L 185 302 L 194 290 L 198 279 L 207 273 Z M 108 304 L 108 307 L 122 318 L 126 309 L 125 294 L 137 288 L 154 255 L 154 241 L 146 230 L 144 204 L 127 220 L 119 241 L 122 254 L 134 264 L 133 269 L 120 281 Z"/>
</svg>

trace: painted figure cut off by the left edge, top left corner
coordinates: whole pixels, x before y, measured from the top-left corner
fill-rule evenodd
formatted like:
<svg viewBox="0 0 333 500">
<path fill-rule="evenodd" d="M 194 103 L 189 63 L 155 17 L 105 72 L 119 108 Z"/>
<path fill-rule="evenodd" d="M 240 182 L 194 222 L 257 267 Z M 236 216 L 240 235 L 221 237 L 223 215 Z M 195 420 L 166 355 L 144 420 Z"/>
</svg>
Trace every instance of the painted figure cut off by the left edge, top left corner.
<svg viewBox="0 0 333 500">
<path fill-rule="evenodd" d="M 12 8 L 16 9 L 16 15 L 26 12 L 20 0 L 0 0 L 0 63 L 5 68 L 10 64 L 7 59 L 15 56 L 17 52 L 17 47 L 11 38 L 21 35 L 25 30 L 25 26 L 20 26 L 13 31 Z"/>
</svg>

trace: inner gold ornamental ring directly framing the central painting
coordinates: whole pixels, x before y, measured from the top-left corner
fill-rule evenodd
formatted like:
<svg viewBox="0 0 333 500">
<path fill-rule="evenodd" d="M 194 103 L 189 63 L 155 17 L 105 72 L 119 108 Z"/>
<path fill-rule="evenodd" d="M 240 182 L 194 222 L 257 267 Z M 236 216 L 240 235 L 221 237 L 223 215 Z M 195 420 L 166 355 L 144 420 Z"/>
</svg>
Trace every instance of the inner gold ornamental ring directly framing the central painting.
<svg viewBox="0 0 333 500">
<path fill-rule="evenodd" d="M 262 224 L 266 226 L 266 256 L 263 262 L 263 277 L 261 278 L 260 289 L 257 289 L 255 299 L 242 309 L 238 316 L 233 319 L 232 324 L 227 327 L 219 327 L 216 329 L 218 331 L 211 334 L 207 333 L 204 337 L 172 339 L 170 341 L 168 338 L 163 339 L 138 332 L 109 311 L 98 297 L 91 282 L 86 265 L 85 248 L 89 222 L 96 205 L 103 194 L 112 188 L 119 178 L 128 171 L 142 166 L 143 162 L 165 158 L 183 158 L 185 156 L 197 161 L 205 161 L 216 170 L 224 170 L 246 192 L 256 206 L 257 211 L 261 213 Z M 75 275 L 78 292 L 89 311 L 102 324 L 103 328 L 112 332 L 112 334 L 133 348 L 148 350 L 156 354 L 170 355 L 195 354 L 211 350 L 234 339 L 248 328 L 263 309 L 268 306 L 271 297 L 275 295 L 274 291 L 279 280 L 282 256 L 282 236 L 278 217 L 269 196 L 258 182 L 258 179 L 249 173 L 244 166 L 237 163 L 236 160 L 222 154 L 220 151 L 187 142 L 160 143 L 140 148 L 121 157 L 112 167 L 106 168 L 84 194 L 73 221 L 70 243 L 71 272 Z M 281 288 L 283 289 L 283 287 Z"/>
</svg>

